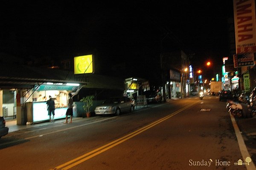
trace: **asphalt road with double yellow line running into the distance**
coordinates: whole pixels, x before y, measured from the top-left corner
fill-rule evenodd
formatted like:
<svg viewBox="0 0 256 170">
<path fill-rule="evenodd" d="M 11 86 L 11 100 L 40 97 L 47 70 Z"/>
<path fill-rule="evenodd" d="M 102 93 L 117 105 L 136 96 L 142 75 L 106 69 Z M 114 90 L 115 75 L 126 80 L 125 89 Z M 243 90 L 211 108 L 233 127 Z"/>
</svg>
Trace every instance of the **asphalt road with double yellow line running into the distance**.
<svg viewBox="0 0 256 170">
<path fill-rule="evenodd" d="M 203 109 L 203 110 L 202 110 Z M 206 97 L 151 105 L 88 123 L 9 133 L 4 170 L 246 170 L 225 102 Z M 253 160 L 255 162 L 255 160 Z M 246 168 L 247 167 L 247 168 Z"/>
</svg>

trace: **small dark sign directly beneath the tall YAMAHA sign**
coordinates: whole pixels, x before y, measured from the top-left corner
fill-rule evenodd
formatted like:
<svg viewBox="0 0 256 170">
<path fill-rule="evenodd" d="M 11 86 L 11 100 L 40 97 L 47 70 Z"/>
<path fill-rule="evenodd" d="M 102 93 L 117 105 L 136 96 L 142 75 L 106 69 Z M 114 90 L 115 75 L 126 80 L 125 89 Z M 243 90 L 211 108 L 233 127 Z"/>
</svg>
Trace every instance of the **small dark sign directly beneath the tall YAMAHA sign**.
<svg viewBox="0 0 256 170">
<path fill-rule="evenodd" d="M 234 67 L 254 66 L 254 54 L 234 55 Z"/>
</svg>

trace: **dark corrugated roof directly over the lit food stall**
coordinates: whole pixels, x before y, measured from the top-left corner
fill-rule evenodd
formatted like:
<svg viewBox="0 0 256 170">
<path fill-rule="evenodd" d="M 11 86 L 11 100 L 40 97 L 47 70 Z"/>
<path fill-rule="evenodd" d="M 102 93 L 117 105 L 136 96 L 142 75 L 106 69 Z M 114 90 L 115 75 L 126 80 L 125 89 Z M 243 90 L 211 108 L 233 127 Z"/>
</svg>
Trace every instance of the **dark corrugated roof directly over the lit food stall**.
<svg viewBox="0 0 256 170">
<path fill-rule="evenodd" d="M 87 84 L 76 81 L 73 72 L 0 63 L 0 88 L 31 88 L 46 82 Z"/>
</svg>

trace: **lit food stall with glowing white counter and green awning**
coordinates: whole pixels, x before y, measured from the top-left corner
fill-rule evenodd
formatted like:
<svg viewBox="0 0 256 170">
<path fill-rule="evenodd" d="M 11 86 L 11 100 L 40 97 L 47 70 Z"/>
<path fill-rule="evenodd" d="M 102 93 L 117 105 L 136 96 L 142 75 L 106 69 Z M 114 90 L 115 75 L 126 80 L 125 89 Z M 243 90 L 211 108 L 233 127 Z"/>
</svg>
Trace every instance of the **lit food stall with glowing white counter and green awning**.
<svg viewBox="0 0 256 170">
<path fill-rule="evenodd" d="M 33 91 L 25 95 L 25 117 L 27 124 L 34 124 L 42 121 L 48 121 L 47 100 L 49 95 L 55 102 L 54 119 L 66 117 L 68 93 L 74 93 L 79 84 L 41 84 L 36 86 Z M 43 97 L 42 97 L 43 96 Z M 45 98 L 44 98 L 45 97 Z M 73 107 L 73 116 L 76 117 L 76 106 Z"/>
</svg>

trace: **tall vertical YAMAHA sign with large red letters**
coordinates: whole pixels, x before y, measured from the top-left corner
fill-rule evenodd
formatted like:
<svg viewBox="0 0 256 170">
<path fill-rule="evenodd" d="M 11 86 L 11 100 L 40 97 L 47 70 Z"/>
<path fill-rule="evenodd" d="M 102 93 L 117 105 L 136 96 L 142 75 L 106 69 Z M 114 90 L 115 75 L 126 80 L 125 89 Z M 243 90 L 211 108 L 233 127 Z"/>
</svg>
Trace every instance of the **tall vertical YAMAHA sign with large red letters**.
<svg viewBox="0 0 256 170">
<path fill-rule="evenodd" d="M 236 54 L 256 52 L 254 0 L 233 0 Z"/>
</svg>

